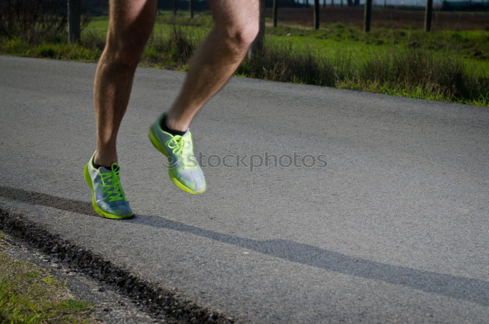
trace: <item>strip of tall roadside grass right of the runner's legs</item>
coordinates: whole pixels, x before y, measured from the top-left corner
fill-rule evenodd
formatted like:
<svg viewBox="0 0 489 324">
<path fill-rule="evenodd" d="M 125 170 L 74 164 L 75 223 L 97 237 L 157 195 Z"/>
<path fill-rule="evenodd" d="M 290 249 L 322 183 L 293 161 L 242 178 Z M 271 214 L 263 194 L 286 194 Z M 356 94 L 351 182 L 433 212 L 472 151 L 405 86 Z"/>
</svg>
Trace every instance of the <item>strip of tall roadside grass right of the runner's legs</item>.
<svg viewBox="0 0 489 324">
<path fill-rule="evenodd" d="M 237 73 L 265 80 L 305 83 L 433 100 L 487 103 L 489 78 L 478 77 L 461 58 L 427 48 L 391 46 L 363 59 L 348 51 L 328 58 L 306 47 L 266 46 L 245 59 Z"/>
</svg>

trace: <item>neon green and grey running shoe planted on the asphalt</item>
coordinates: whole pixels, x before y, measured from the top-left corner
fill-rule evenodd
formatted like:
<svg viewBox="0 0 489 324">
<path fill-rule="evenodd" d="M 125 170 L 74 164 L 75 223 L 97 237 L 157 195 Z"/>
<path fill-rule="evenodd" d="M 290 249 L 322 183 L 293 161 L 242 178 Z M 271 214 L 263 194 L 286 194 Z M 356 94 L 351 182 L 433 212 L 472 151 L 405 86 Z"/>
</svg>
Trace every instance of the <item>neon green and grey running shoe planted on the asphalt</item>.
<svg viewBox="0 0 489 324">
<path fill-rule="evenodd" d="M 92 206 L 95 211 L 107 218 L 129 218 L 134 215 L 129 207 L 124 190 L 119 180 L 120 167 L 112 163 L 111 169 L 93 166 L 93 153 L 90 161 L 85 165 L 85 181 L 92 191 Z"/>
</svg>

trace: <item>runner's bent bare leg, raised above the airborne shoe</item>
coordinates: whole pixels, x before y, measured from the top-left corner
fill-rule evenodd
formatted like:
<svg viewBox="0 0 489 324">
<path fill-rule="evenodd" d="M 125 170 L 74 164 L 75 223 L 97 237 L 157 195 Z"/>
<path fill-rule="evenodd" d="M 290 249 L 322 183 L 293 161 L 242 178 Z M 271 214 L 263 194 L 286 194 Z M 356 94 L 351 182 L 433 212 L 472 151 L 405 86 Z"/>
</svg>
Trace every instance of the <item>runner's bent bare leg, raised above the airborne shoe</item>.
<svg viewBox="0 0 489 324">
<path fill-rule="evenodd" d="M 171 129 L 186 131 L 200 107 L 231 77 L 259 29 L 259 0 L 210 0 L 215 26 L 190 62 L 182 90 L 168 112 Z"/>
</svg>

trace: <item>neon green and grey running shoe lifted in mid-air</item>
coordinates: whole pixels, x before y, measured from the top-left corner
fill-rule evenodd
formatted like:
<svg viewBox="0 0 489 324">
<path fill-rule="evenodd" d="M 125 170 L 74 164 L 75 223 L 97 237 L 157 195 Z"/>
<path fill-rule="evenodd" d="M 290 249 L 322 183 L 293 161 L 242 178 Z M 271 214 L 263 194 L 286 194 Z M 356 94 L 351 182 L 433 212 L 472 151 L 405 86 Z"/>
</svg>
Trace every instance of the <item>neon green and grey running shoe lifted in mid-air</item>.
<svg viewBox="0 0 489 324">
<path fill-rule="evenodd" d="M 155 148 L 163 153 L 169 162 L 168 174 L 178 188 L 189 193 L 205 191 L 205 178 L 194 155 L 192 134 L 187 130 L 183 136 L 167 133 L 161 129 L 161 119 L 151 125 L 149 138 Z"/>
</svg>

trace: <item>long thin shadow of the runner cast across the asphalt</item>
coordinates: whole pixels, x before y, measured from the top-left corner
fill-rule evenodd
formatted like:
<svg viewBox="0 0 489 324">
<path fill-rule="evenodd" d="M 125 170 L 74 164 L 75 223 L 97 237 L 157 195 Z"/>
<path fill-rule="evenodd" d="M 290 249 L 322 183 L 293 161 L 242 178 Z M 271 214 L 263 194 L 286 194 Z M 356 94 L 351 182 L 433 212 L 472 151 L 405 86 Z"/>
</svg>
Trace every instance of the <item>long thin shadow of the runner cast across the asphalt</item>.
<svg viewBox="0 0 489 324">
<path fill-rule="evenodd" d="M 83 213 L 90 216 L 96 215 L 91 203 L 60 198 L 39 192 L 0 186 L 0 196 L 31 204 Z M 361 257 L 328 251 L 308 244 L 295 243 L 289 240 L 254 240 L 236 235 L 209 231 L 154 215 L 134 215 L 133 218 L 124 221 L 132 225 L 145 225 L 154 228 L 191 233 L 328 271 L 360 278 L 381 280 L 427 293 L 444 295 L 454 299 L 466 300 L 483 306 L 489 306 L 489 282 L 479 279 L 457 277 L 437 272 L 394 266 L 367 260 Z"/>
</svg>

